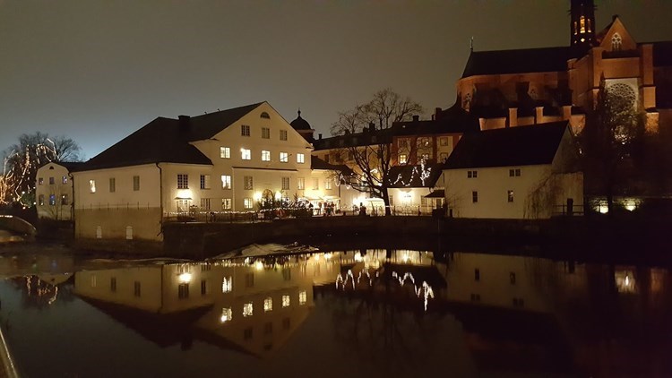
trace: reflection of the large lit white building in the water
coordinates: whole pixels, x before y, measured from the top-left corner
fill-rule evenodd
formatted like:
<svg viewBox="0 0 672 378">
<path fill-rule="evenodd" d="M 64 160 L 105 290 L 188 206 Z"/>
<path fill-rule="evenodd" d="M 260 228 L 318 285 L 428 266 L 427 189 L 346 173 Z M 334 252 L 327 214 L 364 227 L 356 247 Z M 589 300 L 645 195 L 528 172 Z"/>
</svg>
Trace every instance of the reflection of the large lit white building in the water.
<svg viewBox="0 0 672 378">
<path fill-rule="evenodd" d="M 158 322 L 179 318 L 191 337 L 263 356 L 306 321 L 314 282 L 332 279 L 334 263 L 315 256 L 80 271 L 75 294 L 120 319 L 134 311 Z"/>
</svg>

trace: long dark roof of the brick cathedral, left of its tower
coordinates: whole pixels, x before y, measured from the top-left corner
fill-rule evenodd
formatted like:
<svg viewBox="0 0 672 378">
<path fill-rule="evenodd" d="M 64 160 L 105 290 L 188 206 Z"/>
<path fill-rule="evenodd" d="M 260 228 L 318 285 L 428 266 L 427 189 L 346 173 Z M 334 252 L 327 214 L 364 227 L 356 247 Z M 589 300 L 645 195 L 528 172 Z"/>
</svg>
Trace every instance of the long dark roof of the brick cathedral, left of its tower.
<svg viewBox="0 0 672 378">
<path fill-rule="evenodd" d="M 472 51 L 462 78 L 504 73 L 547 73 L 567 71 L 571 47 L 523 48 L 498 51 Z"/>
</svg>

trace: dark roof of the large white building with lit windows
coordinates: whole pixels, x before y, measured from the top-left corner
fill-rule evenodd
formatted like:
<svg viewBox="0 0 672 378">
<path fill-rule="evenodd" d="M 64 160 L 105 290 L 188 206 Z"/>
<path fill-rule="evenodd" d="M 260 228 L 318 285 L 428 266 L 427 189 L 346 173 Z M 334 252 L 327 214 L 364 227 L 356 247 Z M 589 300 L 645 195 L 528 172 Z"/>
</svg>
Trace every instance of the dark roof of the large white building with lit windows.
<svg viewBox="0 0 672 378">
<path fill-rule="evenodd" d="M 202 116 L 181 116 L 184 119 L 179 120 L 159 116 L 108 150 L 100 152 L 79 170 L 161 162 L 211 165 L 211 160 L 189 142 L 210 139 L 261 104 L 234 107 Z"/>
</svg>

